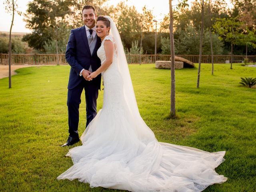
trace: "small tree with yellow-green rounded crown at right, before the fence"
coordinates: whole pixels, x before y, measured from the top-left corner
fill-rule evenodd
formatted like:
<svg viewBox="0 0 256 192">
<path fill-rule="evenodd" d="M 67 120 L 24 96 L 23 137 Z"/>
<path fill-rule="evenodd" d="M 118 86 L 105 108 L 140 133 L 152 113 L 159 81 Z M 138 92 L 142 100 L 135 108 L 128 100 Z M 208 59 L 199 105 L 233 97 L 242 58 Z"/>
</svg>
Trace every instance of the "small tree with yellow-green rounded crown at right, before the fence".
<svg viewBox="0 0 256 192">
<path fill-rule="evenodd" d="M 215 31 L 219 34 L 219 39 L 231 44 L 230 69 L 233 62 L 233 45 L 242 44 L 242 22 L 236 18 L 217 19 L 214 24 Z"/>
</svg>

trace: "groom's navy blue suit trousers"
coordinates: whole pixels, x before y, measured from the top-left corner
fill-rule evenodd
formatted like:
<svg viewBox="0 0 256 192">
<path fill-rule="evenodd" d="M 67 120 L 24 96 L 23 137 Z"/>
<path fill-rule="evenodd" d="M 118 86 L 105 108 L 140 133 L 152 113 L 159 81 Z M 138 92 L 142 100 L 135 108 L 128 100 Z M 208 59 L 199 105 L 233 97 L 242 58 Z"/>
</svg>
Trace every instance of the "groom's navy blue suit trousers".
<svg viewBox="0 0 256 192">
<path fill-rule="evenodd" d="M 71 137 L 79 137 L 79 105 L 83 89 L 86 101 L 86 127 L 97 114 L 98 88 L 92 82 L 83 79 L 78 86 L 68 90 L 68 132 Z"/>
</svg>

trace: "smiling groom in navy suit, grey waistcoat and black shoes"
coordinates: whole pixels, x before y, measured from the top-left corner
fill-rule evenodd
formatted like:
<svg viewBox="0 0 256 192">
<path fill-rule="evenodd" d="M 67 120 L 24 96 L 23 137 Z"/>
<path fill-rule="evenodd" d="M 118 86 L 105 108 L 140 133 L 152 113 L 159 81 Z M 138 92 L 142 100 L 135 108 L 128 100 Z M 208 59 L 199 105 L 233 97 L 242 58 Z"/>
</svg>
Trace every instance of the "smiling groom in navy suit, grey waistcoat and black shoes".
<svg viewBox="0 0 256 192">
<path fill-rule="evenodd" d="M 79 104 L 83 89 L 86 100 L 86 127 L 97 114 L 96 100 L 100 89 L 101 75 L 92 81 L 88 81 L 87 76 L 100 67 L 97 50 L 101 40 L 96 35 L 97 14 L 94 6 L 85 5 L 82 14 L 84 26 L 71 30 L 65 54 L 65 58 L 71 66 L 67 101 L 69 137 L 62 146 L 70 146 L 80 140 L 78 135 Z"/>
</svg>

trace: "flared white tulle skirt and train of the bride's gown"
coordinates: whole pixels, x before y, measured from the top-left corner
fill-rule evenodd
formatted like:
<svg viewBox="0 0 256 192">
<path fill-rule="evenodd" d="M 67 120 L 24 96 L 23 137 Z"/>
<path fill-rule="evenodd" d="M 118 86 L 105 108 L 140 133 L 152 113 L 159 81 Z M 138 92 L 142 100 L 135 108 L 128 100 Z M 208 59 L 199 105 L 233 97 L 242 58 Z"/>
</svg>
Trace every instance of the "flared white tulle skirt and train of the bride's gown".
<svg viewBox="0 0 256 192">
<path fill-rule="evenodd" d="M 227 180 L 214 170 L 224 151 L 158 142 L 141 117 L 125 110 L 100 110 L 81 140 L 66 154 L 74 165 L 58 180 L 132 192 L 200 192 Z"/>
</svg>

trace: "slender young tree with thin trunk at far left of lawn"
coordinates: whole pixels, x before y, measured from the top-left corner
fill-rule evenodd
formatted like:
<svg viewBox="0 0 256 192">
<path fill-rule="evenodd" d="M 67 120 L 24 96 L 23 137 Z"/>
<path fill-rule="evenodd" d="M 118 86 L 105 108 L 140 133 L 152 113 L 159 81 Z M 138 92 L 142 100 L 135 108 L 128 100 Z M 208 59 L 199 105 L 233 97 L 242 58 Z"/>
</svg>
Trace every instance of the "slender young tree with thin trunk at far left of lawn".
<svg viewBox="0 0 256 192">
<path fill-rule="evenodd" d="M 21 15 L 21 12 L 17 10 L 18 5 L 17 5 L 17 0 L 14 2 L 14 0 L 5 0 L 4 5 L 5 5 L 5 10 L 8 13 L 12 14 L 12 22 L 10 26 L 10 33 L 9 33 L 9 88 L 12 88 L 12 79 L 11 79 L 11 59 L 12 59 L 12 25 L 14 22 L 14 13 L 18 13 Z"/>
</svg>

